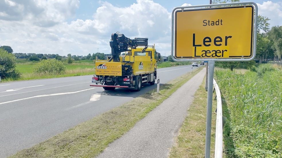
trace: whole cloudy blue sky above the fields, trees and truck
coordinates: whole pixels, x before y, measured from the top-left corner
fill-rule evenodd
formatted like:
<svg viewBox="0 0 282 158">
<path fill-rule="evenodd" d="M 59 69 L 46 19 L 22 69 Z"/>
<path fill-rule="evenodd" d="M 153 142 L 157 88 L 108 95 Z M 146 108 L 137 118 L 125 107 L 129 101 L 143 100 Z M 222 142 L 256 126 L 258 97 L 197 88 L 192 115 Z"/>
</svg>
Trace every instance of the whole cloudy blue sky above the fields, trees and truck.
<svg viewBox="0 0 282 158">
<path fill-rule="evenodd" d="M 282 1 L 254 1 L 270 26 L 282 25 Z M 0 45 L 15 53 L 87 55 L 110 53 L 111 33 L 148 37 L 170 54 L 171 11 L 209 0 L 0 0 Z"/>
</svg>

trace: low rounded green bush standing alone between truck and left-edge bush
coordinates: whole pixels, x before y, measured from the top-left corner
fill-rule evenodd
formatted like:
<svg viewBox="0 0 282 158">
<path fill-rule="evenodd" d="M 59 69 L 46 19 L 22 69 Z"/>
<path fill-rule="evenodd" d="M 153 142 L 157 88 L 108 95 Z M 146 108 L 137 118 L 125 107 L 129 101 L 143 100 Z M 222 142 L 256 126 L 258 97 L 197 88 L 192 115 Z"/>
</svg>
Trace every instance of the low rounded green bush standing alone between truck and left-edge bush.
<svg viewBox="0 0 282 158">
<path fill-rule="evenodd" d="M 34 65 L 34 73 L 44 73 L 58 75 L 65 73 L 66 67 L 62 62 L 56 59 L 41 60 Z"/>
</svg>

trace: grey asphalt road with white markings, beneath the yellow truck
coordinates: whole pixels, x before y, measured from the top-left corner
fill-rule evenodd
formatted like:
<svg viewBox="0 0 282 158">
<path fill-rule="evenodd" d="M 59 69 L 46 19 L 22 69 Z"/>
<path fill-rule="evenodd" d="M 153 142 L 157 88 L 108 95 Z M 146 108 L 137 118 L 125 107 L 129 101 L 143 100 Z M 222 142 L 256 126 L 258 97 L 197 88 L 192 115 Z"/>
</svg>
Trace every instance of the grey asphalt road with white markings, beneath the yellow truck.
<svg viewBox="0 0 282 158">
<path fill-rule="evenodd" d="M 193 67 L 195 70 L 197 67 Z M 157 70 L 160 83 L 191 71 L 191 65 Z M 90 87 L 92 75 L 0 83 L 0 157 L 44 141 L 132 100 L 139 92 Z"/>
</svg>

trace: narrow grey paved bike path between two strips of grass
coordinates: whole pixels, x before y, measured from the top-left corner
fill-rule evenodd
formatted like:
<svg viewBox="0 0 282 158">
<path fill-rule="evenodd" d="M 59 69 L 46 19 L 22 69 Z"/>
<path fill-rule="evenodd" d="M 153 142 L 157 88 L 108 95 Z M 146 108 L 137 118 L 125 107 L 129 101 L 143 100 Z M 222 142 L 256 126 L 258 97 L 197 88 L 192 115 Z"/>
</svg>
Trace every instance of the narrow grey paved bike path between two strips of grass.
<svg viewBox="0 0 282 158">
<path fill-rule="evenodd" d="M 192 77 L 168 99 L 139 121 L 129 132 L 111 143 L 98 158 L 164 158 L 182 125 L 205 69 Z"/>
</svg>

